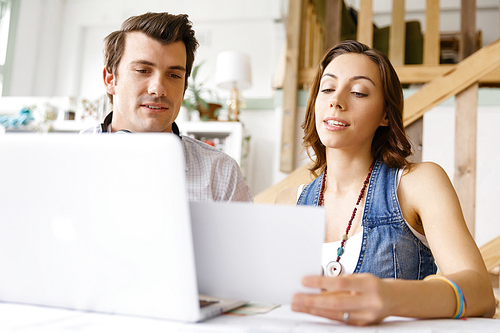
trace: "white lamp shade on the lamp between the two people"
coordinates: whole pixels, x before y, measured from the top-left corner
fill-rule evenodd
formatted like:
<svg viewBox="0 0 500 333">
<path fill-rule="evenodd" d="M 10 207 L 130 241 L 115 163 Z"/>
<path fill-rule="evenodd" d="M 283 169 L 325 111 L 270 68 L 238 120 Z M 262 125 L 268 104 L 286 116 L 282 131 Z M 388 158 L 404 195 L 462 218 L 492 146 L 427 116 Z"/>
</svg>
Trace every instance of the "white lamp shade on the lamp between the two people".
<svg viewBox="0 0 500 333">
<path fill-rule="evenodd" d="M 225 51 L 217 56 L 215 84 L 220 88 L 239 90 L 252 86 L 250 57 L 236 51 Z"/>
</svg>

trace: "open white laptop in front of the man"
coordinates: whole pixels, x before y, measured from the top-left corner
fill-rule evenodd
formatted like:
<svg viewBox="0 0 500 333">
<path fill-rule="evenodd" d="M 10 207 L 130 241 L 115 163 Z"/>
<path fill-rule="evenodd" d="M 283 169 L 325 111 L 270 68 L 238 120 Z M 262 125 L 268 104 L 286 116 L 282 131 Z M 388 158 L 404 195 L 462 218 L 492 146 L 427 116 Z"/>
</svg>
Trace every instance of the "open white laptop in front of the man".
<svg viewBox="0 0 500 333">
<path fill-rule="evenodd" d="M 0 156 L 0 301 L 187 322 L 243 303 L 217 300 L 200 307 L 199 289 L 231 297 L 242 284 L 231 277 L 229 291 L 215 282 L 214 290 L 212 275 L 208 282 L 204 274 L 197 278 L 197 269 L 211 266 L 195 265 L 178 137 L 7 134 L 0 137 Z M 225 242 L 217 239 L 220 233 L 205 237 L 195 221 L 193 226 L 196 242 Z M 320 270 L 323 228 L 314 239 L 316 253 L 307 259 L 316 261 L 315 272 L 306 265 L 302 275 Z M 275 237 L 286 238 L 287 232 Z M 240 268 L 216 269 L 223 277 Z M 293 291 L 288 294 L 291 299 Z"/>
</svg>

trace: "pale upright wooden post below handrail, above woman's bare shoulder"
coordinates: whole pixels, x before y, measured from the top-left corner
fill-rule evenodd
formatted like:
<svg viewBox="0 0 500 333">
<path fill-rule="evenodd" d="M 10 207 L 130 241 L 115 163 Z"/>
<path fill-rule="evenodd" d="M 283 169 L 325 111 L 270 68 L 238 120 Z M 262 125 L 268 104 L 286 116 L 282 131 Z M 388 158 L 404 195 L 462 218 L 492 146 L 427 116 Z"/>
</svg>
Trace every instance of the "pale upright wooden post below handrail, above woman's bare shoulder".
<svg viewBox="0 0 500 333">
<path fill-rule="evenodd" d="M 455 96 L 455 174 L 453 185 L 460 199 L 465 222 L 471 235 L 476 221 L 476 83 Z"/>
</svg>

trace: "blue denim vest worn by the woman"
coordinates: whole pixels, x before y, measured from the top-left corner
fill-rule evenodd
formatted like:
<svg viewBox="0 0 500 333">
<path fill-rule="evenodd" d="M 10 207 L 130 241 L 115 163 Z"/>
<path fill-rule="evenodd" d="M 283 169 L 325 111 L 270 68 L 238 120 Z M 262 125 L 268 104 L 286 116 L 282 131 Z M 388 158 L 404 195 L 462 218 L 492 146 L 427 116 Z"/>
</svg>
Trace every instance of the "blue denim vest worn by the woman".
<svg viewBox="0 0 500 333">
<path fill-rule="evenodd" d="M 363 240 L 354 273 L 380 278 L 421 280 L 435 274 L 431 250 L 408 228 L 396 194 L 397 169 L 377 161 L 366 191 Z M 297 205 L 318 205 L 323 177 L 309 183 Z M 347 221 L 346 221 L 347 223 Z"/>
</svg>

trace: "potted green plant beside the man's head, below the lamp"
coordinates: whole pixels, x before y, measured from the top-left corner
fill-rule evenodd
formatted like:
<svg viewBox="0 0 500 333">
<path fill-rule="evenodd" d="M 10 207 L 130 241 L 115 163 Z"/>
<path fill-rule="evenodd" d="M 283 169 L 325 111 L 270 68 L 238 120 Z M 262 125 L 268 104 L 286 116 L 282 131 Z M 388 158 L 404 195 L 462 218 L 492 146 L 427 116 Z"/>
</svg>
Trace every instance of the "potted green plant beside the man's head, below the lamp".
<svg viewBox="0 0 500 333">
<path fill-rule="evenodd" d="M 198 110 L 200 112 L 200 119 L 203 121 L 217 120 L 219 109 L 222 107 L 222 105 L 207 102 L 207 100 L 202 97 L 202 95 L 214 97 L 215 94 L 210 89 L 205 87 L 203 82 L 197 81 L 198 70 L 203 65 L 203 63 L 204 62 L 201 62 L 199 65 L 196 65 L 193 68 L 191 79 L 188 82 L 188 93 L 182 101 L 182 106 L 188 109 L 189 112 Z"/>
</svg>

